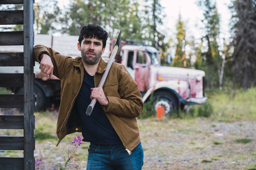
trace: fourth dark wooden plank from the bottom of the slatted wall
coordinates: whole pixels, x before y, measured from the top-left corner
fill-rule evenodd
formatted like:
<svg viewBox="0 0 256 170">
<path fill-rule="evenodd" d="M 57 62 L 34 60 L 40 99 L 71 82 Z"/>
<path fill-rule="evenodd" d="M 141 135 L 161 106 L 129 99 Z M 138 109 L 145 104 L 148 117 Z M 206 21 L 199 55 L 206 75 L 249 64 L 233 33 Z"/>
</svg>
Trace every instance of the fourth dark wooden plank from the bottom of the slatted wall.
<svg viewBox="0 0 256 170">
<path fill-rule="evenodd" d="M 23 108 L 23 96 L 23 94 L 0 94 L 0 108 Z"/>
</svg>

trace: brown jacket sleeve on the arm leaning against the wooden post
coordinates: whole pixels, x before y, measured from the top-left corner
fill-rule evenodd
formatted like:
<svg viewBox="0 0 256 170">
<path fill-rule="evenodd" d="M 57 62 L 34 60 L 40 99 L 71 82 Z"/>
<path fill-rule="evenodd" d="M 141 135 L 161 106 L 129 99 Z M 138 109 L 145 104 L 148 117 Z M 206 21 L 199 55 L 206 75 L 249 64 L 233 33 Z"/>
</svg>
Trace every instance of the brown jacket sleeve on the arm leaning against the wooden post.
<svg viewBox="0 0 256 170">
<path fill-rule="evenodd" d="M 36 62 L 40 63 L 39 56 L 42 53 L 46 53 L 50 56 L 54 65 L 53 74 L 59 79 L 62 79 L 67 71 L 66 68 L 72 64 L 73 58 L 70 56 L 61 55 L 52 48 L 43 45 L 35 45 L 33 48 L 33 55 Z"/>
</svg>

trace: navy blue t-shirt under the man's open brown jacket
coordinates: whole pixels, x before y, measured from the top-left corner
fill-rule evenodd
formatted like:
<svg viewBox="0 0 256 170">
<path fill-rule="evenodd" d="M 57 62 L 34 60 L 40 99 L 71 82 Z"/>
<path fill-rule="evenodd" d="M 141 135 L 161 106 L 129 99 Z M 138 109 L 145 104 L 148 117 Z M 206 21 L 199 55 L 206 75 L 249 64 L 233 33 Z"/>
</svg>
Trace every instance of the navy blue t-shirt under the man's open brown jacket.
<svg viewBox="0 0 256 170">
<path fill-rule="evenodd" d="M 82 87 L 74 104 L 82 119 L 83 141 L 105 145 L 122 144 L 117 132 L 113 129 L 98 102 L 96 102 L 91 116 L 86 116 L 85 114 L 88 105 L 91 103 L 91 88 L 94 87 L 94 76 L 90 76 L 84 70 Z"/>
</svg>

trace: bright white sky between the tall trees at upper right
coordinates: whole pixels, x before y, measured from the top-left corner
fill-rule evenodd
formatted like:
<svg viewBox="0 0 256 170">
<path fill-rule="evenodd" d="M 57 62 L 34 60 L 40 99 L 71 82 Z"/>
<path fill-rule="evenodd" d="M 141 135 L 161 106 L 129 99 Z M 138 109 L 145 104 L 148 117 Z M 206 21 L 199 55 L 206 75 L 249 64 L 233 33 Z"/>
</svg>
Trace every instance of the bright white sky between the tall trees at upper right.
<svg viewBox="0 0 256 170">
<path fill-rule="evenodd" d="M 161 0 L 160 2 L 166 14 L 163 23 L 167 27 L 167 34 L 169 36 L 175 34 L 175 25 L 178 21 L 179 13 L 181 13 L 182 20 L 185 21 L 187 36 L 193 35 L 195 38 L 202 36 L 200 27 L 202 27 L 203 11 L 196 5 L 197 0 Z M 231 0 L 215 0 L 215 2 L 221 19 L 220 37 L 221 39 L 228 38 L 230 36 L 229 21 L 231 19 L 228 5 L 231 4 Z"/>
</svg>

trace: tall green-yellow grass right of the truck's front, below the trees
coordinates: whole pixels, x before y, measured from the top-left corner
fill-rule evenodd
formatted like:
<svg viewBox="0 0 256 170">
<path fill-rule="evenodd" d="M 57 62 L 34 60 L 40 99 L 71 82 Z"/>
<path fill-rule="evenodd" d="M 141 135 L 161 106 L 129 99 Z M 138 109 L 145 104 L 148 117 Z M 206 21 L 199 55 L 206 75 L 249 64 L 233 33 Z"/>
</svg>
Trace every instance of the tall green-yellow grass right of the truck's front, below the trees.
<svg viewBox="0 0 256 170">
<path fill-rule="evenodd" d="M 202 105 L 190 105 L 189 112 L 179 112 L 180 119 L 196 117 L 212 118 L 219 122 L 232 123 L 237 120 L 256 121 L 256 88 L 213 89 L 207 92 L 208 101 Z M 214 126 L 214 125 L 213 125 Z"/>
</svg>

